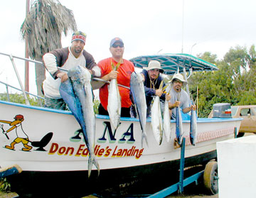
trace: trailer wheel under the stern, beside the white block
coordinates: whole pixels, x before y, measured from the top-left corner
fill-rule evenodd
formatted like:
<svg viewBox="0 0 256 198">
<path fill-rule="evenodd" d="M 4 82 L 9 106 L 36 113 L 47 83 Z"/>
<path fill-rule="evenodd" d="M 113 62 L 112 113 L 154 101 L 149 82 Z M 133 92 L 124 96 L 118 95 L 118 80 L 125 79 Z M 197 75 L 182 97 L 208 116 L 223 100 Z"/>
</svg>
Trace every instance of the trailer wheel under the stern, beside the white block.
<svg viewBox="0 0 256 198">
<path fill-rule="evenodd" d="M 218 163 L 210 161 L 203 172 L 203 184 L 209 194 L 218 193 Z"/>
</svg>

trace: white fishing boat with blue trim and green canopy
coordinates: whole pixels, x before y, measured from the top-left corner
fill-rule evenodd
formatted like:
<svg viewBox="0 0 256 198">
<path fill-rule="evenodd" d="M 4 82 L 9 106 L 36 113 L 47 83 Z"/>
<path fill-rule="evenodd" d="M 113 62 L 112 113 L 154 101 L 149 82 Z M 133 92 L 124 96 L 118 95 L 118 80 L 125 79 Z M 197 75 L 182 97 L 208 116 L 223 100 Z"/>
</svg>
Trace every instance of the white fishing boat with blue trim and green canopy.
<svg viewBox="0 0 256 198">
<path fill-rule="evenodd" d="M 147 55 L 131 59 L 135 67 L 139 68 L 147 67 L 150 60 L 161 62 L 167 75 L 172 75 L 177 70 L 189 74 L 194 71 L 218 70 L 215 65 L 186 54 Z M 96 115 L 95 155 L 100 165 L 100 176 L 97 177 L 96 167 L 92 166 L 92 175 L 88 179 L 89 151 L 80 125 L 72 112 L 11 101 L 0 101 L 0 112 L 0 166 L 17 164 L 21 167 L 23 172 L 12 176 L 16 187 L 35 185 L 38 180 L 33 179 L 33 176 L 38 174 L 42 177 L 48 175 L 44 177 L 47 188 L 56 186 L 56 180 L 61 177 L 61 182 L 65 183 L 61 186 L 64 187 L 63 191 L 65 186 L 70 187 L 72 184 L 90 191 L 90 186 L 100 186 L 103 181 L 106 185 L 106 181 L 139 177 L 146 172 L 166 168 L 178 170 L 181 148 L 175 141 L 174 120 L 171 120 L 171 140 L 167 142 L 164 136 L 159 145 L 151 131 L 151 119 L 147 119 L 148 145 L 144 144 L 142 148 L 139 119 L 121 118 L 117 131 L 114 131 L 109 116 Z M 197 142 L 196 145 L 191 145 L 188 117 L 183 115 L 182 123 L 186 138 L 186 166 L 207 163 L 216 158 L 216 142 L 234 138 L 235 129 L 239 130 L 241 122 L 241 119 L 232 118 L 198 118 Z M 11 127 L 12 131 L 4 133 Z M 28 143 L 21 140 L 21 132 L 26 134 Z M 63 179 L 65 173 L 68 176 Z M 82 176 L 82 180 L 78 182 L 73 179 L 70 182 L 72 175 Z M 45 185 L 41 187 L 46 188 Z"/>
</svg>

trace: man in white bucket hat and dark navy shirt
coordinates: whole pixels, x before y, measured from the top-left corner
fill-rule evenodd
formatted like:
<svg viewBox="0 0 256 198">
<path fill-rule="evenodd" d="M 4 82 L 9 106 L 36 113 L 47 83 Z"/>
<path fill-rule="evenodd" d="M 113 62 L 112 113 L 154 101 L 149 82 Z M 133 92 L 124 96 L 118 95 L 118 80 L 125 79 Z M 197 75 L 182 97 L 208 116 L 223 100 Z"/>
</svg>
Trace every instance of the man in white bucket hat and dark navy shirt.
<svg viewBox="0 0 256 198">
<path fill-rule="evenodd" d="M 163 77 L 161 77 L 160 73 L 163 73 L 164 70 L 161 68 L 161 64 L 157 60 L 151 60 L 149 62 L 148 67 L 143 67 L 142 75 L 144 77 L 144 89 L 146 94 L 146 116 L 150 115 L 151 111 L 151 102 L 153 96 L 159 96 L 162 101 L 165 99 L 171 99 L 169 94 L 164 94 L 162 89 L 159 89 L 159 86 L 162 82 Z M 165 83 L 163 84 L 163 87 Z"/>
</svg>

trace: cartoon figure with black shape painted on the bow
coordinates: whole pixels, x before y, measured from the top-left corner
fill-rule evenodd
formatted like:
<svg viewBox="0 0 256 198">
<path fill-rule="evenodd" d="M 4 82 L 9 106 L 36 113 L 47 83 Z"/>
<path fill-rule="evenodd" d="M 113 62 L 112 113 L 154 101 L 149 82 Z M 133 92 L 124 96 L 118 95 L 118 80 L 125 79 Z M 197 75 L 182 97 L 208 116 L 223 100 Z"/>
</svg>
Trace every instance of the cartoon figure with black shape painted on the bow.
<svg viewBox="0 0 256 198">
<path fill-rule="evenodd" d="M 23 144 L 23 148 L 21 150 L 23 151 L 29 151 L 34 147 L 38 147 L 37 150 L 41 150 L 44 151 L 44 148 L 49 142 L 50 139 L 53 136 L 53 133 L 48 133 L 46 134 L 46 136 L 44 136 L 41 141 L 29 141 L 28 135 L 25 133 L 25 131 L 23 131 L 23 127 L 22 127 L 22 122 L 24 121 L 24 116 L 21 114 L 18 114 L 14 117 L 14 121 L 4 121 L 4 120 L 0 120 L 0 123 L 7 123 L 9 124 L 9 126 L 11 126 L 9 129 L 7 129 L 6 131 L 4 130 L 4 125 L 0 124 L 0 128 L 2 130 L 2 133 L 5 134 L 6 138 L 9 139 L 9 136 L 7 133 L 10 133 L 11 131 L 13 131 L 15 129 L 16 131 L 16 138 L 14 139 L 14 141 L 11 142 L 10 145 L 5 145 L 4 148 L 8 148 L 10 150 L 14 150 L 15 145 L 17 143 L 22 143 Z M 28 143 L 31 143 L 31 145 L 28 145 Z"/>
</svg>

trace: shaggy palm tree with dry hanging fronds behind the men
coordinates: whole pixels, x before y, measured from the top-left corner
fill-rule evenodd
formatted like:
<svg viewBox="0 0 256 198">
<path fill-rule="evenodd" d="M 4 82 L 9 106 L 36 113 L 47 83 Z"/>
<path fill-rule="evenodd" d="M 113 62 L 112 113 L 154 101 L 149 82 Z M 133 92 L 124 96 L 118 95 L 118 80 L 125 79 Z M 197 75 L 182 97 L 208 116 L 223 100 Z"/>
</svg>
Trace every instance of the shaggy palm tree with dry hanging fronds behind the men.
<svg viewBox="0 0 256 198">
<path fill-rule="evenodd" d="M 61 48 L 61 35 L 77 30 L 73 11 L 62 6 L 58 0 L 35 0 L 21 25 L 21 35 L 28 39 L 28 55 L 42 62 L 45 53 Z M 41 92 L 45 68 L 36 65 L 36 85 Z"/>
</svg>

